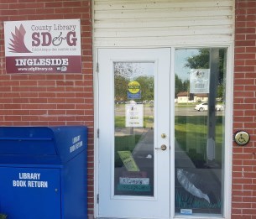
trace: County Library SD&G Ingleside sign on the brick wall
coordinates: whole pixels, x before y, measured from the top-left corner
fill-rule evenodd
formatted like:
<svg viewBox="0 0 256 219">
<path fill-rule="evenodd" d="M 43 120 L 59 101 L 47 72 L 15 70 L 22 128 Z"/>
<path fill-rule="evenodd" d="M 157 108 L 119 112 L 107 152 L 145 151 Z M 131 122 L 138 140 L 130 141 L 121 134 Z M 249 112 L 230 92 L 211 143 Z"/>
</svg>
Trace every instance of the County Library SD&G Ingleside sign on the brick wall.
<svg viewBox="0 0 256 219">
<path fill-rule="evenodd" d="M 4 22 L 7 73 L 81 73 L 80 19 Z"/>
</svg>

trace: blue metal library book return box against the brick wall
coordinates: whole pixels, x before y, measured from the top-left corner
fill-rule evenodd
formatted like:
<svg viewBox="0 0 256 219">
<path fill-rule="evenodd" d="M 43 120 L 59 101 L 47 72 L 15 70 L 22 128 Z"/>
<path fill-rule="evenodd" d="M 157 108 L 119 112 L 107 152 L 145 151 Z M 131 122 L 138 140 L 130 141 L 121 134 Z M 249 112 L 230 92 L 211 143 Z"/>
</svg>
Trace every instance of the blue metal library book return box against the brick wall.
<svg viewBox="0 0 256 219">
<path fill-rule="evenodd" d="M 0 213 L 87 218 L 87 128 L 0 127 Z"/>
</svg>

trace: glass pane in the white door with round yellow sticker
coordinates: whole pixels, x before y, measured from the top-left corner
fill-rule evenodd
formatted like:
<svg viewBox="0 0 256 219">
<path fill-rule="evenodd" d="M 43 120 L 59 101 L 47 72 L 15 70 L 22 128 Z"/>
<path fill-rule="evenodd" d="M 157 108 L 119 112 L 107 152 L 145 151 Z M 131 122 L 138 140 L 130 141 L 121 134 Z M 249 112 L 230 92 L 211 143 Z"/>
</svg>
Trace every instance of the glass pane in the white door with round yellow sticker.
<svg viewBox="0 0 256 219">
<path fill-rule="evenodd" d="M 115 195 L 154 196 L 154 63 L 114 63 Z"/>
</svg>

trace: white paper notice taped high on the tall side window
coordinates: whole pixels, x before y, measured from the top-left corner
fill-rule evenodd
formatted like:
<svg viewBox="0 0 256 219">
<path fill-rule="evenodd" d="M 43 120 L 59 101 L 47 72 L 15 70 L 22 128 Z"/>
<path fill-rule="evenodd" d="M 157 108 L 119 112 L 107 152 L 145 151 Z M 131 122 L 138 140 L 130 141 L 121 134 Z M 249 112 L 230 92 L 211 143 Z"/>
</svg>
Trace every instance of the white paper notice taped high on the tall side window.
<svg viewBox="0 0 256 219">
<path fill-rule="evenodd" d="M 191 93 L 209 93 L 210 69 L 191 69 Z"/>
</svg>

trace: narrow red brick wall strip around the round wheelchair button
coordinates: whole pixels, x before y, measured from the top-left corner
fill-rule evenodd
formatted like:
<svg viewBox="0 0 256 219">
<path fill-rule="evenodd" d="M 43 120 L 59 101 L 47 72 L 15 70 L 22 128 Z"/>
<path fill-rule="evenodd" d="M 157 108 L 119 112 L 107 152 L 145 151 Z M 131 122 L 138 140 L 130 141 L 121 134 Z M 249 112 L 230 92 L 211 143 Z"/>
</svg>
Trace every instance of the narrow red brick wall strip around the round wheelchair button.
<svg viewBox="0 0 256 219">
<path fill-rule="evenodd" d="M 256 1 L 237 0 L 235 10 L 233 133 L 251 140 L 232 150 L 232 219 L 256 218 Z"/>
</svg>

